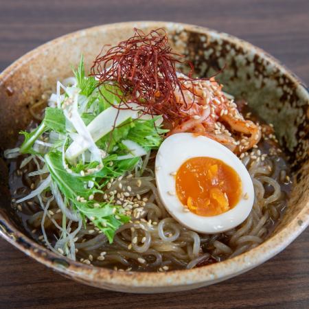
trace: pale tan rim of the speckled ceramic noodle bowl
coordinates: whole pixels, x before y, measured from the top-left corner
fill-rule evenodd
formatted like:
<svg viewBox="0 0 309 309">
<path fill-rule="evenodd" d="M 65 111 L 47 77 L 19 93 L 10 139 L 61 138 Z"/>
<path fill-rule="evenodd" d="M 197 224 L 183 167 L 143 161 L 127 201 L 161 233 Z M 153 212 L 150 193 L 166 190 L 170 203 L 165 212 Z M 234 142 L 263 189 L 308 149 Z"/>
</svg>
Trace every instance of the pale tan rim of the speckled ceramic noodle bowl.
<svg viewBox="0 0 309 309">
<path fill-rule="evenodd" d="M 194 31 L 200 34 L 210 34 L 212 36 L 224 38 L 227 41 L 231 41 L 236 45 L 242 45 L 245 49 L 253 49 L 258 52 L 260 56 L 270 61 L 279 71 L 282 71 L 285 75 L 289 76 L 293 82 L 300 84 L 307 90 L 304 82 L 301 82 L 294 73 L 286 69 L 278 60 L 270 56 L 264 50 L 255 47 L 251 43 L 243 41 L 236 36 L 231 36 L 224 32 L 217 32 L 207 27 L 201 27 L 197 25 L 190 25 L 185 23 L 174 23 L 166 21 L 129 21 L 124 23 L 110 23 L 106 25 L 97 25 L 95 27 L 89 27 L 87 29 L 78 30 L 55 38 L 43 45 L 40 45 L 27 54 L 21 56 L 18 60 L 14 61 L 12 65 L 7 67 L 2 73 L 0 73 L 0 85 L 14 71 L 23 66 L 25 62 L 33 60 L 36 56 L 42 54 L 45 50 L 52 48 L 53 45 L 66 41 L 71 38 L 78 38 L 85 36 L 86 34 L 95 34 L 98 32 L 108 32 L 122 27 L 167 27 L 172 29 L 185 29 Z M 306 91 L 306 95 L 309 100 L 309 93 Z M 219 282 L 223 279 L 236 276 L 245 271 L 249 271 L 251 268 L 266 262 L 266 260 L 272 258 L 274 255 L 285 249 L 288 244 L 293 242 L 299 234 L 306 229 L 309 225 L 309 201 L 306 206 L 299 211 L 299 214 L 284 227 L 281 231 L 277 232 L 268 240 L 262 242 L 258 247 L 251 249 L 241 255 L 236 256 L 222 262 L 210 264 L 207 266 L 201 266 L 198 268 L 192 268 L 190 270 L 178 270 L 168 271 L 166 273 L 157 272 L 119 272 L 113 271 L 108 268 L 101 268 L 96 266 L 89 266 L 81 262 L 69 260 L 65 257 L 49 251 L 49 249 L 36 243 L 30 239 L 21 231 L 17 230 L 8 220 L 6 220 L 0 213 L 0 236 L 14 245 L 14 247 L 23 251 L 32 258 L 45 264 L 46 266 L 53 268 L 54 270 L 76 279 L 80 279 L 82 282 L 88 282 L 89 284 L 100 286 L 106 285 L 105 288 L 111 288 L 111 286 L 122 286 L 124 288 L 164 288 L 168 286 L 193 286 L 194 284 L 206 285 L 212 282 Z M 65 264 L 65 263 L 67 264 Z M 115 288 L 116 289 L 116 288 Z"/>
</svg>

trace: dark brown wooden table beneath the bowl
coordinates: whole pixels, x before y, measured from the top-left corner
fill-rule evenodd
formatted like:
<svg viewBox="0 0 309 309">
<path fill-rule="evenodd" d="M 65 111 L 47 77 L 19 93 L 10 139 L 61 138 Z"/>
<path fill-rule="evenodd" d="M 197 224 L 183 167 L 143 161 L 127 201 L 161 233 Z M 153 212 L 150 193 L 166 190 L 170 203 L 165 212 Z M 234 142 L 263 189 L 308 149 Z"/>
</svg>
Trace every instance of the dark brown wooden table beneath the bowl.
<svg viewBox="0 0 309 309">
<path fill-rule="evenodd" d="M 194 23 L 266 49 L 309 84 L 308 0 L 0 0 L 0 70 L 62 34 L 118 21 Z M 128 295 L 83 286 L 0 240 L 0 308 L 309 308 L 309 231 L 272 260 L 185 293 Z"/>
</svg>

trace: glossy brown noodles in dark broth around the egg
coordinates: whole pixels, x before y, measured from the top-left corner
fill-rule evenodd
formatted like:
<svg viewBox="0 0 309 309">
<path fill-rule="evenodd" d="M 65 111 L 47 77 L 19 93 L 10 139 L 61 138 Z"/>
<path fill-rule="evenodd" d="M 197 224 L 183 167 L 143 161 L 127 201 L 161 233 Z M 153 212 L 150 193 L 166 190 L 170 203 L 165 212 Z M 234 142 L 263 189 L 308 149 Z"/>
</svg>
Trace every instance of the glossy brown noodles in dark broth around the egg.
<svg viewBox="0 0 309 309">
<path fill-rule="evenodd" d="M 90 220 L 86 219 L 83 225 L 57 185 L 51 182 L 39 157 L 12 159 L 23 172 L 17 174 L 23 187 L 12 188 L 12 195 L 20 200 L 27 229 L 41 226 L 42 234 L 34 233 L 33 237 L 55 253 L 86 264 L 128 271 L 190 269 L 233 258 L 258 246 L 281 218 L 289 192 L 284 182 L 288 175 L 286 163 L 277 155 L 257 160 L 258 152 L 268 153 L 265 144 L 242 156 L 255 190 L 253 209 L 241 225 L 225 233 L 198 234 L 168 214 L 155 185 L 155 152 L 148 152 L 132 174 L 113 179 L 105 191 L 111 197 L 128 192 L 127 207 L 132 211 L 131 221 L 117 229 L 112 244 Z M 11 176 L 16 177 L 16 168 Z M 44 191 L 48 183 L 52 194 Z M 41 193 L 31 198 L 36 195 L 30 193 L 33 185 L 38 188 L 35 193 Z M 27 194 L 31 200 L 25 201 Z"/>
</svg>

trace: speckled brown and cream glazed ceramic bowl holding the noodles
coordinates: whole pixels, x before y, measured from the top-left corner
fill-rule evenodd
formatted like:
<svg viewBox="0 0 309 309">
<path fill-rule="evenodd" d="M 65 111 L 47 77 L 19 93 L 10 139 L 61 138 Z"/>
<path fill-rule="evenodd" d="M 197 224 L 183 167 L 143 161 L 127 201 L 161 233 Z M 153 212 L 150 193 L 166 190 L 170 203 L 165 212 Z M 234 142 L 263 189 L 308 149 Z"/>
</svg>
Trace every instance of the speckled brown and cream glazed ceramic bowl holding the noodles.
<svg viewBox="0 0 309 309">
<path fill-rule="evenodd" d="M 146 32 L 164 27 L 177 52 L 194 62 L 200 76 L 211 76 L 226 64 L 220 75 L 225 89 L 275 126 L 293 168 L 293 194 L 284 218 L 268 240 L 247 253 L 209 266 L 168 273 L 117 272 L 87 266 L 56 255 L 30 238 L 10 206 L 8 164 L 0 159 L 0 234 L 32 258 L 78 282 L 131 293 L 189 290 L 214 284 L 258 266 L 282 251 L 309 222 L 308 117 L 306 86 L 277 60 L 261 49 L 228 34 L 162 22 L 116 23 L 74 32 L 26 54 L 0 75 L 1 153 L 16 143 L 19 130 L 30 122 L 29 103 L 41 97 L 56 80 L 71 75 L 83 53 L 86 65 L 102 45 L 124 40 L 133 27 Z"/>
</svg>

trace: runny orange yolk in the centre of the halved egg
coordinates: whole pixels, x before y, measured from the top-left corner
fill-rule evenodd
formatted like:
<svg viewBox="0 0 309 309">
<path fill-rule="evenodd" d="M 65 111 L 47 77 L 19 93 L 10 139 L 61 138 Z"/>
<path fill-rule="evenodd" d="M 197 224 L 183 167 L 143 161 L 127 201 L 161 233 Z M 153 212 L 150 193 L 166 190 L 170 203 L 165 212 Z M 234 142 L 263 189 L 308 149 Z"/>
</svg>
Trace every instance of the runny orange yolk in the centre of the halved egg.
<svg viewBox="0 0 309 309">
<path fill-rule="evenodd" d="M 198 216 L 217 216 L 233 208 L 242 194 L 240 176 L 223 161 L 194 157 L 176 173 L 176 194 Z"/>
</svg>

